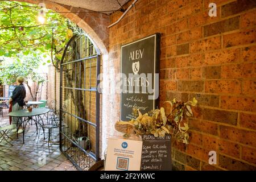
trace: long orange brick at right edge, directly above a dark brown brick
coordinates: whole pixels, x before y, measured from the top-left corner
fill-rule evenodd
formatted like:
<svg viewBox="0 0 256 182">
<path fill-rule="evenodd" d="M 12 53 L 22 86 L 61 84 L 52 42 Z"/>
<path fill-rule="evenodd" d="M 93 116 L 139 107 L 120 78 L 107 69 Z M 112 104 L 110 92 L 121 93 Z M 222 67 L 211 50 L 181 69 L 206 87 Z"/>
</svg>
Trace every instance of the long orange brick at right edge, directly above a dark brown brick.
<svg viewBox="0 0 256 182">
<path fill-rule="evenodd" d="M 221 96 L 221 108 L 256 112 L 255 98 Z"/>
</svg>

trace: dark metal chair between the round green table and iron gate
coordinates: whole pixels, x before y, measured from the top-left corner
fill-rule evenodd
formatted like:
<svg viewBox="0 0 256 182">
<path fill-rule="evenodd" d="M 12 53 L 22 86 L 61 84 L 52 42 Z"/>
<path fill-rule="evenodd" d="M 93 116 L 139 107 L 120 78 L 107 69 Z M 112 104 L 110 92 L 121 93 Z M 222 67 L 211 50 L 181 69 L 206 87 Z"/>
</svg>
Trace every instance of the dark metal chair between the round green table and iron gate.
<svg viewBox="0 0 256 182">
<path fill-rule="evenodd" d="M 63 110 L 67 111 L 67 106 L 63 106 Z M 65 112 L 63 112 L 62 114 L 62 119 L 65 119 Z M 49 146 L 49 141 L 51 139 L 52 136 L 52 130 L 59 128 L 60 127 L 60 110 L 56 110 L 53 111 L 53 113 L 51 113 L 51 115 L 49 115 L 49 117 L 46 119 L 45 122 L 39 122 L 40 127 L 42 127 L 43 129 L 43 133 L 44 133 L 44 139 L 46 139 L 45 137 L 45 130 L 48 129 L 48 146 Z M 39 129 L 39 135 L 38 135 L 38 139 L 40 137 L 40 129 Z"/>
</svg>

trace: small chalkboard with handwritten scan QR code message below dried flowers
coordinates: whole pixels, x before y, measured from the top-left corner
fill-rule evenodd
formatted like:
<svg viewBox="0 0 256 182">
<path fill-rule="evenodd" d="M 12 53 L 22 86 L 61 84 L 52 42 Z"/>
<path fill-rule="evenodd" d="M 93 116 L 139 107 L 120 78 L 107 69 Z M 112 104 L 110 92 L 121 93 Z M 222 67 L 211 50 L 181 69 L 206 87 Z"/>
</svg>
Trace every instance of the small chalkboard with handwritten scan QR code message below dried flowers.
<svg viewBox="0 0 256 182">
<path fill-rule="evenodd" d="M 171 135 L 143 135 L 141 171 L 171 171 Z"/>
</svg>

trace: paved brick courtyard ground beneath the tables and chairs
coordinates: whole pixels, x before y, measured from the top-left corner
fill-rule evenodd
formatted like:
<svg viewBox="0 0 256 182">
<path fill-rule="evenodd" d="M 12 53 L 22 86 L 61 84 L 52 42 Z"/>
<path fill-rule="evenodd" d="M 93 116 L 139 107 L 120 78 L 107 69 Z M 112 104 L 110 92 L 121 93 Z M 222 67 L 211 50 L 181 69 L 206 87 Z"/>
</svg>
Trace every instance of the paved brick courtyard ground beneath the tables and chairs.
<svg viewBox="0 0 256 182">
<path fill-rule="evenodd" d="M 4 111 L 4 117 L 0 116 L 0 126 L 6 125 L 9 125 L 7 110 Z M 48 131 L 46 137 L 47 133 Z M 40 135 L 36 135 L 35 125 L 27 126 L 24 144 L 22 134 L 16 138 L 15 133 L 10 133 L 10 137 L 13 139 L 12 146 L 5 141 L 0 143 L 0 171 L 76 171 L 73 164 L 59 150 L 58 129 L 53 130 L 53 140 L 49 146 L 48 138 L 44 140 L 43 130 Z M 43 156 L 46 156 L 46 163 Z"/>
</svg>

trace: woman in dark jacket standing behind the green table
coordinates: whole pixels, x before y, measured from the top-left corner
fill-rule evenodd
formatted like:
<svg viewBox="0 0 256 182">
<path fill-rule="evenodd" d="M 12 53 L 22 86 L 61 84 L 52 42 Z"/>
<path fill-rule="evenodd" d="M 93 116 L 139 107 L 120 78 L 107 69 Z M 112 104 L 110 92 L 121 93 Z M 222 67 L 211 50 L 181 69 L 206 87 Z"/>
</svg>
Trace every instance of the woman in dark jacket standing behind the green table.
<svg viewBox="0 0 256 182">
<path fill-rule="evenodd" d="M 25 81 L 24 77 L 19 76 L 16 79 L 17 87 L 13 90 L 13 96 L 11 96 L 9 102 L 12 102 L 13 108 L 12 111 L 17 111 L 23 109 L 23 106 L 26 105 L 24 99 L 26 97 L 26 88 L 23 85 Z M 13 124 L 18 122 L 18 118 L 13 118 Z M 22 133 L 22 129 L 18 130 L 18 133 Z"/>
</svg>

